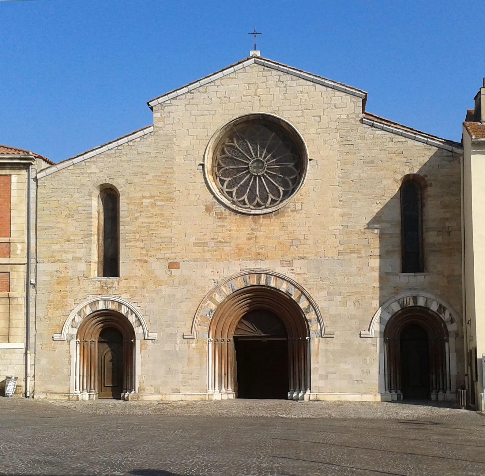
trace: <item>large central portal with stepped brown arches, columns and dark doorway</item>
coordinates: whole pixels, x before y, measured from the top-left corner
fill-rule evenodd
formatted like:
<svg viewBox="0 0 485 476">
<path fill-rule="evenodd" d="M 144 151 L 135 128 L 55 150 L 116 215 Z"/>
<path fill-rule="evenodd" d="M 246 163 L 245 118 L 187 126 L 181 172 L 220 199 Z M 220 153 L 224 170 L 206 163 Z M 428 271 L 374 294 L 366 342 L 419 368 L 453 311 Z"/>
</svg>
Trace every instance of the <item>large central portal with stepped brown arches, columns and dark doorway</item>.
<svg viewBox="0 0 485 476">
<path fill-rule="evenodd" d="M 210 320 L 209 392 L 219 398 L 305 399 L 309 335 L 301 307 L 288 294 L 258 285 L 233 292 Z"/>
</svg>

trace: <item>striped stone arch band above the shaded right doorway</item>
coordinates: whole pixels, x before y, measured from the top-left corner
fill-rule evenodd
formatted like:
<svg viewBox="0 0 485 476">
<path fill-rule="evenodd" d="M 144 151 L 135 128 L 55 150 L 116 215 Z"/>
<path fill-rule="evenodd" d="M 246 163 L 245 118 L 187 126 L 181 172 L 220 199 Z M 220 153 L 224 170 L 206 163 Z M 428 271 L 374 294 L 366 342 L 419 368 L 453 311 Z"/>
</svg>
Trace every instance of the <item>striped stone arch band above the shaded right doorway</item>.
<svg viewBox="0 0 485 476">
<path fill-rule="evenodd" d="M 450 336 L 462 333 L 460 319 L 450 304 L 429 293 L 408 291 L 389 299 L 379 307 L 372 317 L 369 329 L 361 331 L 360 337 L 377 337 L 375 335 L 376 330 L 379 335 L 382 335 L 388 320 L 396 312 L 411 306 L 420 306 L 434 311 L 443 319 Z"/>
</svg>

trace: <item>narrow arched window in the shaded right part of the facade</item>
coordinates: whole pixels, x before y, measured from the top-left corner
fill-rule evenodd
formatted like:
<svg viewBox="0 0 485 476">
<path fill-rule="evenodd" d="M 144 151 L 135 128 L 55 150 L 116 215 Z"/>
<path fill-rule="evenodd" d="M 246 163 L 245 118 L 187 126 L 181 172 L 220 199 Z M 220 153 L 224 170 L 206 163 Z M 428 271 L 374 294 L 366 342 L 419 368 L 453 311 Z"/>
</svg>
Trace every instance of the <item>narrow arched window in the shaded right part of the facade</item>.
<svg viewBox="0 0 485 476">
<path fill-rule="evenodd" d="M 416 180 L 401 186 L 401 240 L 403 273 L 423 272 L 422 199 Z"/>
</svg>

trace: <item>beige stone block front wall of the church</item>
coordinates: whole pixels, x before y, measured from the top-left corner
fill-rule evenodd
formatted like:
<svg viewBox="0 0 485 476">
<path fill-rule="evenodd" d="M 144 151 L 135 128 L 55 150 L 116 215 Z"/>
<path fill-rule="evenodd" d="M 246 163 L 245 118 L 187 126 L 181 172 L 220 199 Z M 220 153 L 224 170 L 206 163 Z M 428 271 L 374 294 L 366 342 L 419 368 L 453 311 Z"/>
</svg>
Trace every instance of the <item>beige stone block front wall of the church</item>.
<svg viewBox="0 0 485 476">
<path fill-rule="evenodd" d="M 216 130 L 249 112 L 289 121 L 314 159 L 291 203 L 253 217 L 219 205 L 197 170 Z M 361 112 L 356 96 L 252 65 L 156 106 L 142 139 L 41 178 L 36 392 L 69 392 L 70 344 L 52 335 L 96 295 L 134 304 L 158 333 L 142 341 L 140 392 L 206 392 L 207 340 L 182 334 L 213 286 L 263 268 L 304 286 L 335 332 L 312 340 L 312 391 L 377 393 L 377 341 L 359 332 L 383 302 L 425 290 L 461 313 L 460 166 L 451 152 L 363 125 Z M 398 188 L 409 173 L 429 184 L 419 275 L 400 274 Z M 96 277 L 103 183 L 120 192 L 120 279 Z"/>
</svg>

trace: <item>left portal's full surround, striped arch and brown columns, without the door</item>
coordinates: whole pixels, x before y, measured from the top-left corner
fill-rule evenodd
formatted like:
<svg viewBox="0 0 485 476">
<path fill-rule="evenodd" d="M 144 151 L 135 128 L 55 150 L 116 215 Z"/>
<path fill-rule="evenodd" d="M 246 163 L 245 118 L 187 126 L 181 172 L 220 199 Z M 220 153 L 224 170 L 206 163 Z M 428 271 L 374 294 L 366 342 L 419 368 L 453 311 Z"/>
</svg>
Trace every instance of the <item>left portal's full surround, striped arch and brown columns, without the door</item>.
<svg viewBox="0 0 485 476">
<path fill-rule="evenodd" d="M 144 317 L 128 301 L 98 296 L 79 304 L 65 320 L 61 333 L 52 336 L 54 341 L 70 342 L 70 394 L 76 398 L 97 397 L 97 346 L 99 334 L 105 329 L 115 329 L 123 337 L 121 398 L 129 399 L 129 395 L 138 393 L 140 342 L 156 339 L 157 333 L 148 331 Z"/>
</svg>

